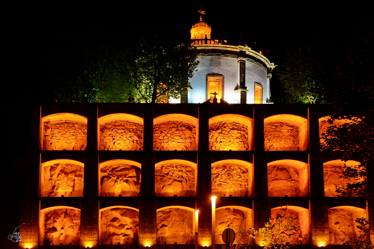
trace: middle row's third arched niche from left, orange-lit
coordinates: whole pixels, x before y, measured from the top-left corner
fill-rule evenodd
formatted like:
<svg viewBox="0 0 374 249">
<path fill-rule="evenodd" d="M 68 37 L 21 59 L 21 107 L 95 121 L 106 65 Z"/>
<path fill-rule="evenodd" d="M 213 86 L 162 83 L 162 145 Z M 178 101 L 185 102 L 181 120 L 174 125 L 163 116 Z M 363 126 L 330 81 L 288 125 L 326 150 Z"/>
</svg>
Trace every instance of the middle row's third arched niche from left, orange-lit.
<svg viewBox="0 0 374 249">
<path fill-rule="evenodd" d="M 179 159 L 155 164 L 157 196 L 196 196 L 197 164 Z"/>
</svg>

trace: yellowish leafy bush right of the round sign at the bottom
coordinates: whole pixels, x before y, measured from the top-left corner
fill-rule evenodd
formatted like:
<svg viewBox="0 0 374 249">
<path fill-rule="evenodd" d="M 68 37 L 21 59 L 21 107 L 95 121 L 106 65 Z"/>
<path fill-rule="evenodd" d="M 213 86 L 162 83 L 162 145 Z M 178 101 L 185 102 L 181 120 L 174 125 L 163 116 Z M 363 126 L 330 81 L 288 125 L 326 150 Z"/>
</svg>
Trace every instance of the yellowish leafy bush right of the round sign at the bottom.
<svg viewBox="0 0 374 249">
<path fill-rule="evenodd" d="M 240 249 L 249 249 L 252 246 L 252 238 L 262 241 L 264 249 L 289 249 L 290 242 L 295 237 L 298 242 L 305 240 L 301 236 L 300 224 L 295 219 L 287 208 L 281 209 L 282 211 L 276 218 L 270 219 L 265 223 L 265 226 L 258 228 L 250 228 L 247 231 L 239 230 L 237 234 L 237 244 Z"/>
</svg>

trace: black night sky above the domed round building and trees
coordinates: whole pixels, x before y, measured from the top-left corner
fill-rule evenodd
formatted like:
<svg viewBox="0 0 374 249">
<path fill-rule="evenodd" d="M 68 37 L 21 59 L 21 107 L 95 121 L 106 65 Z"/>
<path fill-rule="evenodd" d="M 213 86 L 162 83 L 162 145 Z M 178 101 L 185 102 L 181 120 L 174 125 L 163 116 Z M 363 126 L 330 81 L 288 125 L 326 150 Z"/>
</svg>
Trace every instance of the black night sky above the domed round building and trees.
<svg viewBox="0 0 374 249">
<path fill-rule="evenodd" d="M 179 7 L 177 7 L 177 4 Z M 53 77 L 61 64 L 60 58 L 80 44 L 105 37 L 126 39 L 129 30 L 145 27 L 167 29 L 170 35 L 183 32 L 190 37 L 190 28 L 199 21 L 200 3 L 175 4 L 144 2 L 124 6 L 111 3 L 105 6 L 53 6 L 53 10 L 38 13 L 25 25 L 30 34 L 31 53 L 26 58 L 31 65 L 40 58 L 42 78 L 26 87 L 28 101 L 44 101 L 46 85 L 53 85 Z M 269 49 L 269 59 L 282 65 L 287 49 L 316 41 L 327 48 L 332 60 L 338 60 L 343 48 L 349 47 L 359 30 L 373 25 L 364 6 L 327 7 L 316 3 L 291 5 L 284 3 L 203 3 L 203 21 L 212 28 L 212 38 L 258 49 Z M 39 67 L 40 66 L 40 67 Z M 44 69 L 43 69 L 44 68 Z M 272 94 L 282 95 L 282 87 L 273 71 Z"/>
</svg>

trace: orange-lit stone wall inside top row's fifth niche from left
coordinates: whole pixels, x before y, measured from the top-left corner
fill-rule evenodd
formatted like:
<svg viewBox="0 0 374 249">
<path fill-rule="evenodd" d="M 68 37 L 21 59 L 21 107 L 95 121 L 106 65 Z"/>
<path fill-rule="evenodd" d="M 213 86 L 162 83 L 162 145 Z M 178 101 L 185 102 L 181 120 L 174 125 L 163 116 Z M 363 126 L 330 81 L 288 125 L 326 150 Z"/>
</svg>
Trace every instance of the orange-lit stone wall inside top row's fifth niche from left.
<svg viewBox="0 0 374 249">
<path fill-rule="evenodd" d="M 285 122 L 270 122 L 264 127 L 265 150 L 299 150 L 298 127 Z"/>
</svg>

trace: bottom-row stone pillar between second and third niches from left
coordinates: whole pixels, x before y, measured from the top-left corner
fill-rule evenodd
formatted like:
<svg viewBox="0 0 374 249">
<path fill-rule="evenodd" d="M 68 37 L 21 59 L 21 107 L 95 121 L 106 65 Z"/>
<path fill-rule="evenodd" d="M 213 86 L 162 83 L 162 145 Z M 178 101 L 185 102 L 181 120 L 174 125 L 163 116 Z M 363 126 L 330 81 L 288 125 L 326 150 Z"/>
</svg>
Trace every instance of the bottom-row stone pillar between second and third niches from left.
<svg viewBox="0 0 374 249">
<path fill-rule="evenodd" d="M 139 201 L 139 245 L 141 247 L 157 244 L 157 201 Z"/>
</svg>

